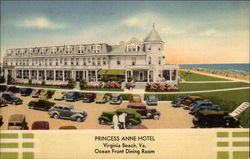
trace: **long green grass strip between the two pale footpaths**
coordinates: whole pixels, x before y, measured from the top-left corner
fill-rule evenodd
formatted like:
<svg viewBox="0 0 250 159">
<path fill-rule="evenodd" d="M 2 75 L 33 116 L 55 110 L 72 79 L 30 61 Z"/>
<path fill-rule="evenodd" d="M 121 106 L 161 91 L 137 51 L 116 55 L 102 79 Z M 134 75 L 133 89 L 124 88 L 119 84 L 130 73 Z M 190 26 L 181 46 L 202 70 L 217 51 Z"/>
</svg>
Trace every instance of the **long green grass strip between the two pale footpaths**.
<svg viewBox="0 0 250 159">
<path fill-rule="evenodd" d="M 248 83 L 230 82 L 230 83 L 181 83 L 177 86 L 179 91 L 201 91 L 237 87 L 249 87 Z"/>
</svg>

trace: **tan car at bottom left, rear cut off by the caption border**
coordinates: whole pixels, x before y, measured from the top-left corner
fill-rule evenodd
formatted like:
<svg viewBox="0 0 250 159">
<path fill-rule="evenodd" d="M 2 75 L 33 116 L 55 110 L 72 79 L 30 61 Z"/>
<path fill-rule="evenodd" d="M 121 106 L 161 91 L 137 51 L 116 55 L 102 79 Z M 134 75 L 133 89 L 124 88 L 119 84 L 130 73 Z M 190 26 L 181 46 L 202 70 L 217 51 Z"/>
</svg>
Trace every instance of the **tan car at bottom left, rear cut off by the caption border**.
<svg viewBox="0 0 250 159">
<path fill-rule="evenodd" d="M 28 130 L 25 115 L 12 114 L 9 118 L 8 130 Z"/>
</svg>

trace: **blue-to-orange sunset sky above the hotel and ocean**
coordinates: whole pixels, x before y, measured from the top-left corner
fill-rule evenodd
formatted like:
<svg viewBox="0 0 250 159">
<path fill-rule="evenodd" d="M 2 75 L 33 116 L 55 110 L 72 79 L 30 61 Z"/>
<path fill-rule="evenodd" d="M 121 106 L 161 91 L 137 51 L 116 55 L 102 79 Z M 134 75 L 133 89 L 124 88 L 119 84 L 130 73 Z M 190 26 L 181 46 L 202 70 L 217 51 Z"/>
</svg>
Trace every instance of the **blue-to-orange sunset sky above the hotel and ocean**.
<svg viewBox="0 0 250 159">
<path fill-rule="evenodd" d="M 249 1 L 1 1 L 1 55 L 143 41 L 155 24 L 168 64 L 249 63 L 249 8 Z"/>
</svg>

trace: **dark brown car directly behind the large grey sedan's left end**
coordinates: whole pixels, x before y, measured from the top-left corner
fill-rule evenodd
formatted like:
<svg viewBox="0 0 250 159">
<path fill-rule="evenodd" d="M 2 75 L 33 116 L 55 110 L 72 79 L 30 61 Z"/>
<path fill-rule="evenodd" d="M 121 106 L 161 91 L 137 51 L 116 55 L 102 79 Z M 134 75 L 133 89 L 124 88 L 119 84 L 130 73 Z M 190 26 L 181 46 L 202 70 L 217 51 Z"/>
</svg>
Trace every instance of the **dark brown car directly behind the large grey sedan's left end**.
<svg viewBox="0 0 250 159">
<path fill-rule="evenodd" d="M 46 99 L 38 99 L 38 100 L 32 100 L 29 102 L 28 107 L 30 109 L 38 109 L 38 110 L 44 110 L 49 111 L 51 107 L 55 105 L 54 102 L 49 102 Z"/>
</svg>

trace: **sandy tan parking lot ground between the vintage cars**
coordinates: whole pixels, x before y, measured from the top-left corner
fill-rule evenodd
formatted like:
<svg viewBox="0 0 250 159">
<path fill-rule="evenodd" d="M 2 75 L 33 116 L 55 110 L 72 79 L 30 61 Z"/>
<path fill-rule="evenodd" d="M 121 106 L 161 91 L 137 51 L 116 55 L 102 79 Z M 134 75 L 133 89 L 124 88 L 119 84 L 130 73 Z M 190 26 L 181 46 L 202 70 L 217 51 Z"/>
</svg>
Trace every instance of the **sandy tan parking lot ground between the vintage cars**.
<svg viewBox="0 0 250 159">
<path fill-rule="evenodd" d="M 19 94 L 16 94 L 20 97 Z M 84 122 L 76 122 L 65 119 L 53 119 L 50 118 L 48 112 L 40 110 L 32 110 L 28 108 L 28 103 L 31 100 L 35 100 L 30 96 L 21 97 L 23 99 L 22 105 L 8 105 L 6 107 L 0 108 L 1 115 L 3 116 L 3 125 L 1 130 L 8 129 L 8 119 L 12 114 L 24 114 L 26 116 L 26 121 L 28 123 L 29 129 L 34 121 L 48 121 L 50 124 L 50 129 L 59 129 L 61 126 L 71 125 L 75 126 L 77 129 L 111 129 L 109 125 L 100 125 L 98 123 L 98 117 L 103 111 L 115 111 L 119 108 L 125 108 L 128 102 L 124 101 L 121 105 L 110 105 L 106 104 L 96 104 L 96 103 L 83 103 L 82 101 L 77 102 L 66 102 L 66 101 L 55 101 L 49 99 L 49 101 L 55 103 L 72 104 L 77 109 L 82 109 L 88 113 L 87 119 Z M 171 106 L 170 102 L 159 102 L 158 106 L 149 106 L 152 108 L 157 108 L 161 112 L 159 120 L 154 119 L 143 119 L 142 125 L 145 125 L 149 129 L 166 129 L 166 128 L 191 128 L 192 116 L 189 111 L 183 108 L 174 108 Z"/>
</svg>

